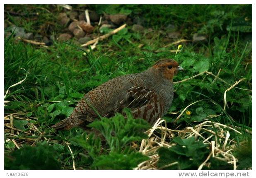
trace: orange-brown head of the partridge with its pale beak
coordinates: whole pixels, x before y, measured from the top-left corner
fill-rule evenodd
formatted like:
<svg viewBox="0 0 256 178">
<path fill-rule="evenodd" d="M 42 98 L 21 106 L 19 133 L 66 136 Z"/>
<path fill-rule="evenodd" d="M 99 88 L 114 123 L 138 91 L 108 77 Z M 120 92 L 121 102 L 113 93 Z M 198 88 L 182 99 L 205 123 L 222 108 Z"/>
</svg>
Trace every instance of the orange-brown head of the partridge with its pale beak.
<svg viewBox="0 0 256 178">
<path fill-rule="evenodd" d="M 152 67 L 156 70 L 157 73 L 160 73 L 162 77 L 171 81 L 174 75 L 176 75 L 179 71 L 184 70 L 173 59 L 158 60 Z"/>
</svg>

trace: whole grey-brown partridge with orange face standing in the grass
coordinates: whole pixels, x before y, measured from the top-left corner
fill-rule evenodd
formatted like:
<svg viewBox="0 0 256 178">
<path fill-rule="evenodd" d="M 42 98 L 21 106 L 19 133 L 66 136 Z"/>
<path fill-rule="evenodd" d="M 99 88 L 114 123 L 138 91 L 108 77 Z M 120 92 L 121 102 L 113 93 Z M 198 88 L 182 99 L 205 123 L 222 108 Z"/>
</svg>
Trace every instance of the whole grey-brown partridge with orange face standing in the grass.
<svg viewBox="0 0 256 178">
<path fill-rule="evenodd" d="M 134 118 L 153 125 L 167 113 L 173 100 L 173 77 L 184 69 L 173 59 L 162 59 L 147 70 L 110 79 L 85 94 L 72 114 L 56 123 L 56 130 L 70 130 L 101 117 L 110 118 L 129 108 Z"/>
</svg>

